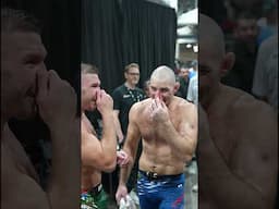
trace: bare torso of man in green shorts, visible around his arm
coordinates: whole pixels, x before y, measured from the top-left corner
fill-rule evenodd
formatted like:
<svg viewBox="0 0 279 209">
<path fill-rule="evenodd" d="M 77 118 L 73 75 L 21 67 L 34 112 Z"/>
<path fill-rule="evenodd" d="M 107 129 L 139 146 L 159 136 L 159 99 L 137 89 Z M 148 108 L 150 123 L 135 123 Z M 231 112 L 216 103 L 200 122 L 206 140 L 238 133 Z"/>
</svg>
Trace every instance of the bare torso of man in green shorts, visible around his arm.
<svg viewBox="0 0 279 209">
<path fill-rule="evenodd" d="M 83 115 L 82 118 L 82 131 L 93 134 L 97 137 L 97 134 L 89 122 L 89 120 Z M 82 137 L 82 140 L 89 140 L 90 138 Z M 94 150 L 92 150 L 94 151 Z M 82 189 L 89 189 L 97 186 L 101 182 L 101 172 L 94 167 L 82 165 Z"/>
</svg>

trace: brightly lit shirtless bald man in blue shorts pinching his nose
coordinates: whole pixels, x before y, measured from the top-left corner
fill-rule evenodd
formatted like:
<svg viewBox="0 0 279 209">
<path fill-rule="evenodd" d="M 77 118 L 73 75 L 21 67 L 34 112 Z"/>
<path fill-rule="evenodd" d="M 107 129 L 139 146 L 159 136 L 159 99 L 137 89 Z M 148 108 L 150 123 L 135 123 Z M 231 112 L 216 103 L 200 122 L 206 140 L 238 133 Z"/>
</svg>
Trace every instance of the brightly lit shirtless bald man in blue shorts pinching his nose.
<svg viewBox="0 0 279 209">
<path fill-rule="evenodd" d="M 159 66 L 150 76 L 151 98 L 135 103 L 130 110 L 123 148 L 130 163 L 120 172 L 118 202 L 128 194 L 125 184 L 142 137 L 137 181 L 141 208 L 183 208 L 183 170 L 197 143 L 197 109 L 174 96 L 178 88 L 173 71 Z"/>
</svg>

